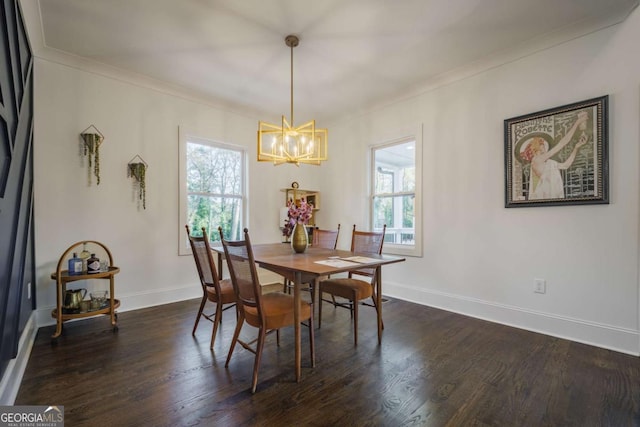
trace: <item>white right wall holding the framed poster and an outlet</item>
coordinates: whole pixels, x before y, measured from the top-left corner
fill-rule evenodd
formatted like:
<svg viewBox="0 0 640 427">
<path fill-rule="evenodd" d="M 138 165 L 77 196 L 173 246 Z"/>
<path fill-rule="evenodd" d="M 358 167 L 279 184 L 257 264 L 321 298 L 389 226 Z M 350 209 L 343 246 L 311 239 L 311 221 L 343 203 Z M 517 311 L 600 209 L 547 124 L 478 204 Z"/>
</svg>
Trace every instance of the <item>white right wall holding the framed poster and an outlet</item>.
<svg viewBox="0 0 640 427">
<path fill-rule="evenodd" d="M 638 354 L 640 11 L 623 24 L 331 126 L 332 158 L 424 126 L 424 257 L 384 272 L 389 295 Z M 609 205 L 504 208 L 504 119 L 608 94 Z M 341 150 L 340 154 L 336 154 Z M 327 187 L 366 209 L 366 162 Z M 332 212 L 337 220 L 342 212 Z M 352 221 L 362 218 L 352 214 Z M 344 223 L 345 221 L 343 221 Z M 547 293 L 533 293 L 533 279 Z"/>
</svg>

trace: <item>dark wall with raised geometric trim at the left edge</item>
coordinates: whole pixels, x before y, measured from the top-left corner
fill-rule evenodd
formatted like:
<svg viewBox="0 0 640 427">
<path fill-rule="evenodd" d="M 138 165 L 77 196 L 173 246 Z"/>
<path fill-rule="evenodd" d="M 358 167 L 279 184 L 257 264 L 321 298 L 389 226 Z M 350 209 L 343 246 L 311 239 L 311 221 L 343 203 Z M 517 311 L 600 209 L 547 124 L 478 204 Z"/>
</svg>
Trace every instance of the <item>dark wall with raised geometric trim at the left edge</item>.
<svg viewBox="0 0 640 427">
<path fill-rule="evenodd" d="M 0 7 L 0 375 L 35 308 L 33 59 L 17 0 Z M 28 294 L 31 294 L 29 298 Z"/>
</svg>

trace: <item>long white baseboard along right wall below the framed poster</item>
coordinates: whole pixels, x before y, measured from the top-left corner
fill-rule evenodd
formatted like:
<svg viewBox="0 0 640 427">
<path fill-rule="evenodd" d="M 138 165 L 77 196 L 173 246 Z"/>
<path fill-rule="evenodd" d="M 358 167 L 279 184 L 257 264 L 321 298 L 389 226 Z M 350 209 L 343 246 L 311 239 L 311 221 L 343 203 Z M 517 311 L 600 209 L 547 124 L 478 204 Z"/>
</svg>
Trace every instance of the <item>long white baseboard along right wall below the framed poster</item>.
<svg viewBox="0 0 640 427">
<path fill-rule="evenodd" d="M 621 353 L 640 355 L 640 331 L 558 316 L 476 298 L 385 282 L 384 294 L 465 316 L 500 323 Z"/>
</svg>

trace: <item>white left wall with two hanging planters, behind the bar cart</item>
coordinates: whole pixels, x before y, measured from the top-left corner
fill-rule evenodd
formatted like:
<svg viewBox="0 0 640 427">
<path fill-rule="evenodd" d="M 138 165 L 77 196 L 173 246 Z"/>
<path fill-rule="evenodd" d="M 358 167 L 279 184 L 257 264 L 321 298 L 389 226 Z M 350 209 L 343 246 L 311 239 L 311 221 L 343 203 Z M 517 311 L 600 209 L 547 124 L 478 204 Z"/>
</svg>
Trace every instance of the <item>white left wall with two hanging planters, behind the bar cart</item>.
<svg viewBox="0 0 640 427">
<path fill-rule="evenodd" d="M 255 161 L 257 118 L 36 59 L 35 224 L 38 323 L 51 323 L 58 258 L 81 240 L 105 243 L 121 269 L 121 310 L 201 296 L 195 264 L 178 256 L 178 127 L 244 146 L 249 165 L 249 230 L 255 243 L 280 240 L 281 188 L 313 186 L 316 167 L 274 167 Z M 270 119 L 270 118 L 266 118 Z M 87 184 L 79 135 L 89 125 L 104 135 L 101 183 Z M 148 164 L 146 210 L 134 198 L 127 163 Z M 309 168 L 316 169 L 313 171 Z M 308 176 L 308 178 L 305 177 Z M 316 178 L 317 181 L 317 178 Z M 89 289 L 97 281 L 80 283 Z"/>
</svg>

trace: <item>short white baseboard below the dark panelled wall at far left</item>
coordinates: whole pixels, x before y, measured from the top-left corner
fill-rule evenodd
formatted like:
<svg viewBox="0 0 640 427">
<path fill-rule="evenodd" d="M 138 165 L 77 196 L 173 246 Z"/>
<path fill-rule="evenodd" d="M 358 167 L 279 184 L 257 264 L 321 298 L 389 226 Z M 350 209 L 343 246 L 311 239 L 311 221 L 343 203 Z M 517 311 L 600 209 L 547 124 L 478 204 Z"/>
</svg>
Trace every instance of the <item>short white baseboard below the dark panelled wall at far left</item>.
<svg viewBox="0 0 640 427">
<path fill-rule="evenodd" d="M 16 400 L 22 376 L 29 362 L 31 348 L 33 348 L 33 342 L 38 332 L 35 318 L 35 312 L 32 312 L 18 342 L 18 355 L 15 359 L 9 361 L 7 369 L 2 376 L 2 381 L 0 381 L 0 405 L 13 405 Z"/>
</svg>

